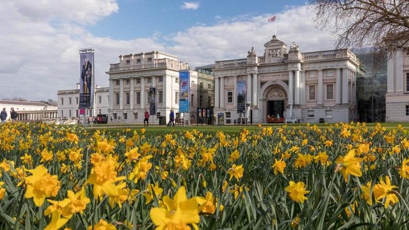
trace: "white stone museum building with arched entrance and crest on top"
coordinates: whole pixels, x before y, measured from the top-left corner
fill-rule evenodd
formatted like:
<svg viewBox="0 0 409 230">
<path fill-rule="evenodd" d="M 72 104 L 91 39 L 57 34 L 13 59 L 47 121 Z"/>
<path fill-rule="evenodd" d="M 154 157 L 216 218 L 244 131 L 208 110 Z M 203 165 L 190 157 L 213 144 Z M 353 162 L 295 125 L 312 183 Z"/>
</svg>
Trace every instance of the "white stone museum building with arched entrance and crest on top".
<svg viewBox="0 0 409 230">
<path fill-rule="evenodd" d="M 246 58 L 216 61 L 214 111 L 224 112 L 225 123 L 239 116 L 238 81 L 246 82 L 245 116 L 253 123 L 265 123 L 267 116 L 283 117 L 284 111 L 288 117 L 291 105 L 294 119 L 301 123 L 356 120 L 360 62 L 350 50 L 302 53 L 295 42 L 287 50 L 276 36 L 264 47 L 262 56 L 252 48 Z"/>
</svg>

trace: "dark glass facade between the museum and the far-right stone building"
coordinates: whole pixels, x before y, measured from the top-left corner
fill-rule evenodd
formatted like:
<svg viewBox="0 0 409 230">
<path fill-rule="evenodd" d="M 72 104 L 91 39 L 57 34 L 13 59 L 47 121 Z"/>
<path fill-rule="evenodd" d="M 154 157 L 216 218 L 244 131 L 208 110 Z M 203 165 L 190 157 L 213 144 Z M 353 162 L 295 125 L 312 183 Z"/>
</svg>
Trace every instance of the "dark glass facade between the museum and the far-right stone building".
<svg viewBox="0 0 409 230">
<path fill-rule="evenodd" d="M 358 121 L 385 122 L 387 92 L 387 57 L 379 53 L 357 52 L 363 66 L 357 74 Z"/>
</svg>

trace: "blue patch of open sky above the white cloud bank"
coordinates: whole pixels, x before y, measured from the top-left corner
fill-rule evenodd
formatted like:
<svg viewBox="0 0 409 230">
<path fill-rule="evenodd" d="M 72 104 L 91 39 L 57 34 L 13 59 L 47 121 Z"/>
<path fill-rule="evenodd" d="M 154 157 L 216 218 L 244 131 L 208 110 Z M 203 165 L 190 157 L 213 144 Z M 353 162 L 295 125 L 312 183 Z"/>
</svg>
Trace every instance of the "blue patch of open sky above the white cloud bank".
<svg viewBox="0 0 409 230">
<path fill-rule="evenodd" d="M 181 9 L 184 2 L 198 3 L 199 8 Z M 95 36 L 132 39 L 148 37 L 155 33 L 173 34 L 195 25 L 214 25 L 221 19 L 240 15 L 271 14 L 274 16 L 274 13 L 283 11 L 289 6 L 304 3 L 305 1 L 299 0 L 120 0 L 117 13 L 101 19 L 97 24 L 88 25 L 87 29 Z"/>
</svg>

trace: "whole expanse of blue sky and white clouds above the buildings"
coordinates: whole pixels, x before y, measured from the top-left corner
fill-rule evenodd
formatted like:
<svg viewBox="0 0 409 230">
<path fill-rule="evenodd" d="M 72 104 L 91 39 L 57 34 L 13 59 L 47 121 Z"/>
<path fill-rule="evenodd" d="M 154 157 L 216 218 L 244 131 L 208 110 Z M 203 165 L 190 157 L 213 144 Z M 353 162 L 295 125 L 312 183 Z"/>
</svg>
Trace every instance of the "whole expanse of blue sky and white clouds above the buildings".
<svg viewBox="0 0 409 230">
<path fill-rule="evenodd" d="M 0 98 L 57 99 L 79 79 L 81 48 L 95 49 L 96 83 L 108 86 L 120 54 L 164 51 L 191 66 L 244 58 L 275 33 L 302 52 L 333 49 L 297 0 L 1 0 Z"/>
</svg>

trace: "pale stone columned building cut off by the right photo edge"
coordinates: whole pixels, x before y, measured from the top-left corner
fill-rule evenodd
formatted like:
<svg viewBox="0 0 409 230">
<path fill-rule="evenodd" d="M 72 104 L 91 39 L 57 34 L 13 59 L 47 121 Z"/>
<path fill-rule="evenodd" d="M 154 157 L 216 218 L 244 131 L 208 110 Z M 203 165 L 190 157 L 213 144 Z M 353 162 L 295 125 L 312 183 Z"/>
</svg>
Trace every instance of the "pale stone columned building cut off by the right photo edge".
<svg viewBox="0 0 409 230">
<path fill-rule="evenodd" d="M 409 44 L 388 58 L 386 122 L 409 122 Z"/>
</svg>

